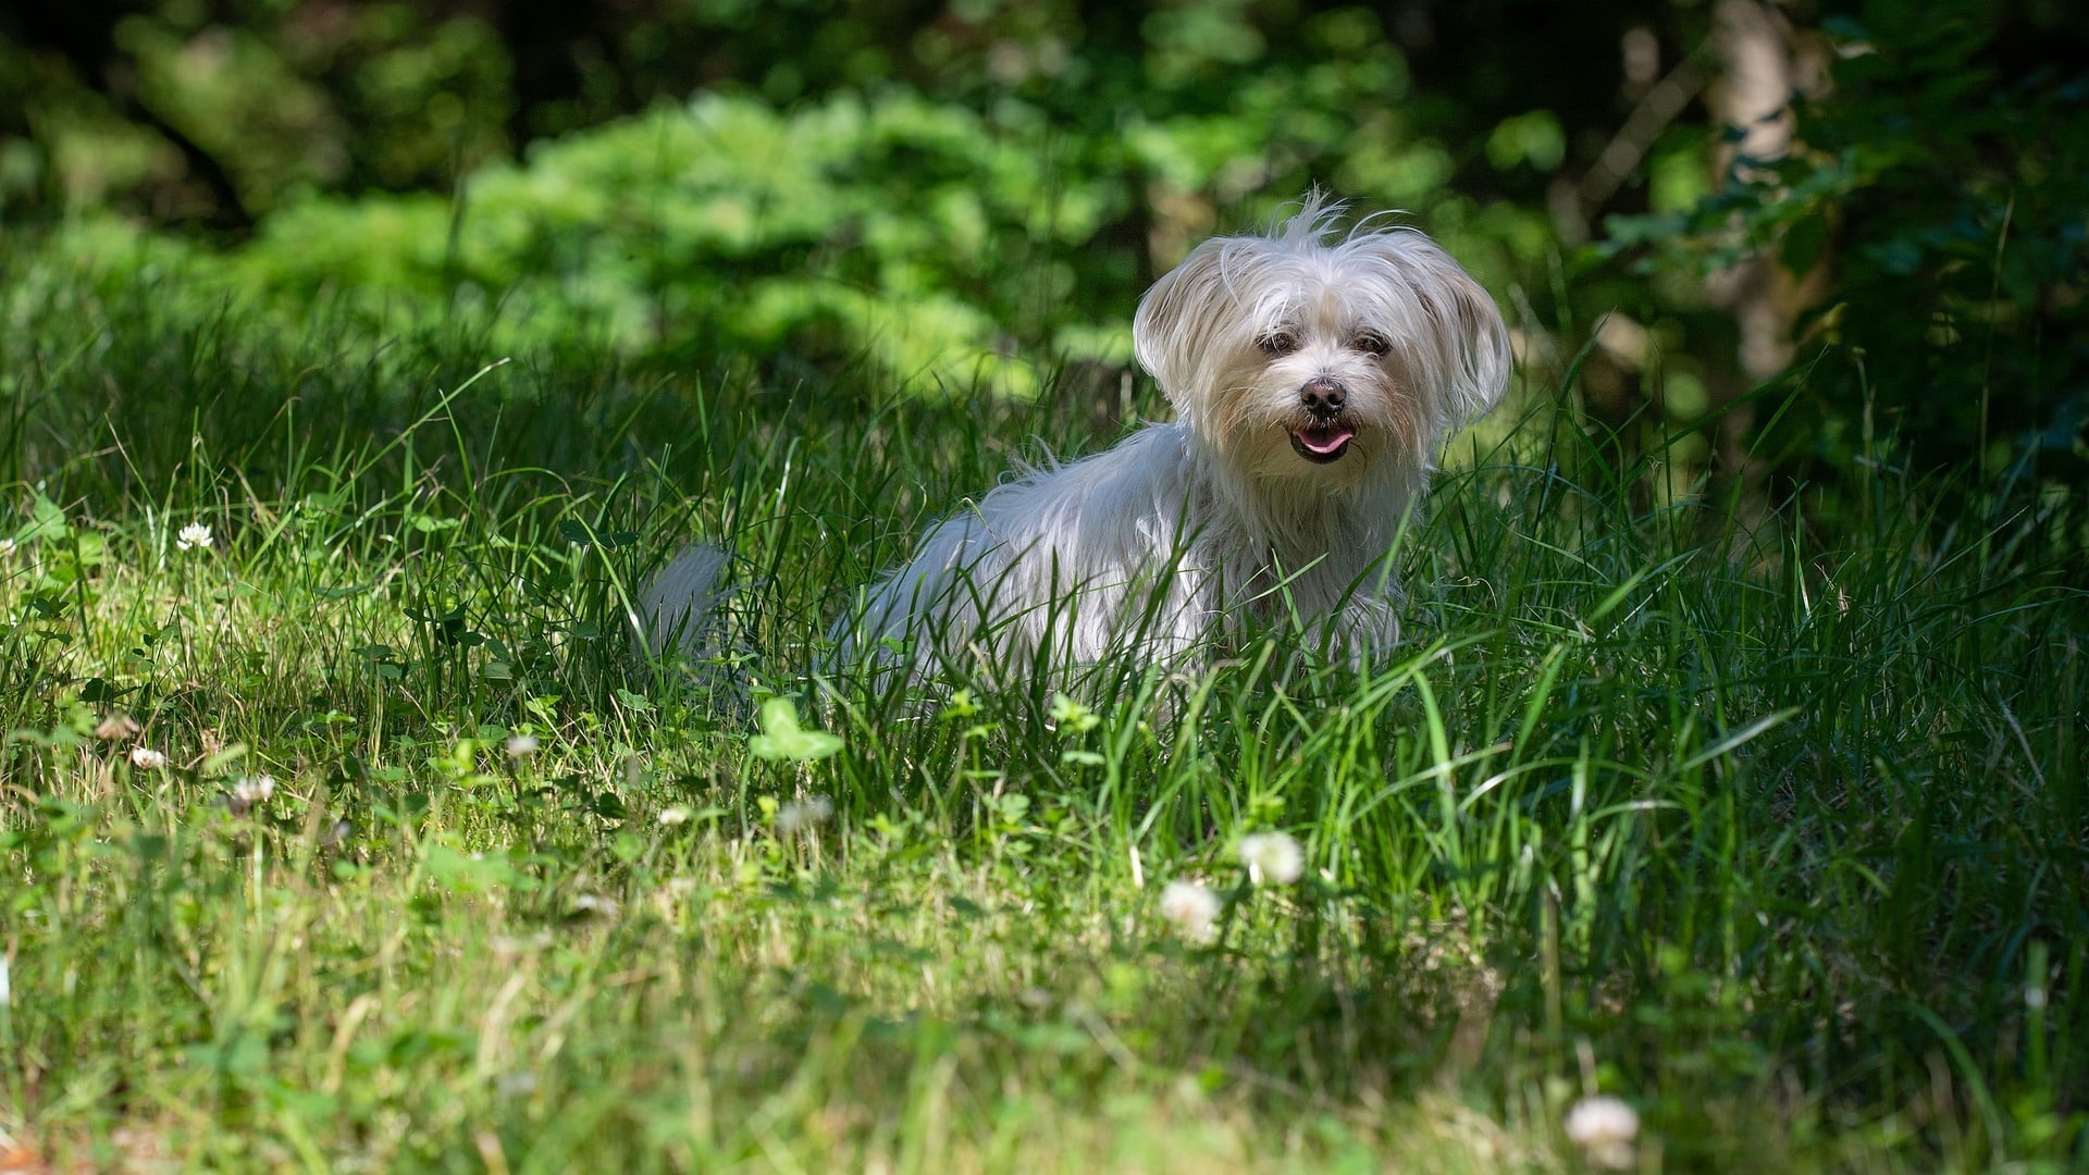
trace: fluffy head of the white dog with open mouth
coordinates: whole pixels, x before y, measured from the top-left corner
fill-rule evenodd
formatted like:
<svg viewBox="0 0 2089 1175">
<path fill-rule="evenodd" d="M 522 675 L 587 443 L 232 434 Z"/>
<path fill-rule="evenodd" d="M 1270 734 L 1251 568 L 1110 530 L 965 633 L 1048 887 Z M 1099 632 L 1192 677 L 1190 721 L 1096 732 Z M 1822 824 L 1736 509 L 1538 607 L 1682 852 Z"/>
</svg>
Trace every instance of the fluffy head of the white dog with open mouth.
<svg viewBox="0 0 2089 1175">
<path fill-rule="evenodd" d="M 1253 477 L 1418 475 L 1508 385 L 1508 328 L 1416 230 L 1358 228 L 1310 194 L 1270 236 L 1199 245 L 1139 303 L 1132 339 L 1201 443 Z"/>
</svg>

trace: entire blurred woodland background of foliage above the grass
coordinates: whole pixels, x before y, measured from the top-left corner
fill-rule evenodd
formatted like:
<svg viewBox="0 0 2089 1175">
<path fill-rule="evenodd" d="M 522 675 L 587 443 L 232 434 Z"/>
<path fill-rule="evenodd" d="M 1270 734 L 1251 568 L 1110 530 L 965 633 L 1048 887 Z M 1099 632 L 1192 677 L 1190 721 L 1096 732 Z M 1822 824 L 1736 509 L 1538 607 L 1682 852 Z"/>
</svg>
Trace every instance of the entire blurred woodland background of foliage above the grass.
<svg viewBox="0 0 2089 1175">
<path fill-rule="evenodd" d="M 2058 489 L 2079 529 L 2089 23 L 1765 8 L 1822 79 L 1790 155 L 1726 165 L 1730 2 L 21 8 L 0 215 L 288 312 L 1024 395 L 1113 387 L 1139 291 L 1318 182 L 1443 238 L 1529 385 L 1659 445 L 1673 493 L 1753 452 L 1778 496 L 1897 435 Z M 111 211 L 230 234 L 144 245 Z M 1811 280 L 1797 366 L 1753 406 L 1771 427 L 1736 437 L 1753 381 L 1709 289 L 1765 251 Z M 1577 355 L 1606 316 L 1644 345 L 1604 391 Z"/>
</svg>

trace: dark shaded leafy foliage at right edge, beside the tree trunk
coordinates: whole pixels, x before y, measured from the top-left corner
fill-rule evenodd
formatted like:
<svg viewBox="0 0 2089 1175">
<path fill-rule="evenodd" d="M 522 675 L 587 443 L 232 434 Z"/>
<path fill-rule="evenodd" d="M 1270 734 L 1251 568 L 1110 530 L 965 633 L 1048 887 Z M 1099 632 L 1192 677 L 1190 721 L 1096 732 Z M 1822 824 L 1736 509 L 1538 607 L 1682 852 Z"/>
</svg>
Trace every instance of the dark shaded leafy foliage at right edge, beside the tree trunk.
<svg viewBox="0 0 2089 1175">
<path fill-rule="evenodd" d="M 1611 224 L 1648 276 L 1774 251 L 1826 286 L 1799 322 L 1801 355 L 1826 358 L 1765 437 L 1780 468 L 1870 460 L 1891 431 L 1922 468 L 2083 485 L 2089 69 L 2012 17 L 1955 0 L 1824 19 L 1832 88 L 1797 102 L 1797 151 Z"/>
</svg>

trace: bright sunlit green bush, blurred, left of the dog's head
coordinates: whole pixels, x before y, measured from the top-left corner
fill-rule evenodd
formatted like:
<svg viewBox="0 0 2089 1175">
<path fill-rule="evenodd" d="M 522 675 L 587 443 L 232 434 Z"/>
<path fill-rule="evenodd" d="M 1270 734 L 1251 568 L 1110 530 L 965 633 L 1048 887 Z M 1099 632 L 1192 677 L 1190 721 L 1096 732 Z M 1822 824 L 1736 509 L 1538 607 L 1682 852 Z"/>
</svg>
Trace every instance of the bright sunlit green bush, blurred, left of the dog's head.
<svg viewBox="0 0 2089 1175">
<path fill-rule="evenodd" d="M 792 115 L 704 96 L 547 142 L 439 197 L 324 199 L 232 257 L 249 284 L 382 314 L 497 305 L 524 339 L 802 349 L 928 385 L 1030 391 L 1017 341 L 1122 360 L 1055 257 L 1124 192 L 1065 182 L 984 119 L 911 94 Z"/>
</svg>

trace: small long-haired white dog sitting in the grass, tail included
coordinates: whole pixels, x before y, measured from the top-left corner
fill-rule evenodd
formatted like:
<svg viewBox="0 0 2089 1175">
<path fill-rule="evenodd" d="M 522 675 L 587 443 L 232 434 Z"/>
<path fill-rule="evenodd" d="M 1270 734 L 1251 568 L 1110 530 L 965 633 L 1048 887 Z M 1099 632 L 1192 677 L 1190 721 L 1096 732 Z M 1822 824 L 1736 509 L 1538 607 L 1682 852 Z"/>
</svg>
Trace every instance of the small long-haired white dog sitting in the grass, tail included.
<svg viewBox="0 0 2089 1175">
<path fill-rule="evenodd" d="M 1178 663 L 1239 617 L 1301 617 L 1362 659 L 1400 636 L 1393 537 L 1437 445 L 1500 399 L 1508 330 L 1416 230 L 1335 234 L 1318 194 L 1270 236 L 1197 247 L 1139 303 L 1132 341 L 1178 420 L 1022 470 L 930 527 L 836 625 L 842 663 Z M 660 633 L 714 594 L 675 560 Z"/>
</svg>

